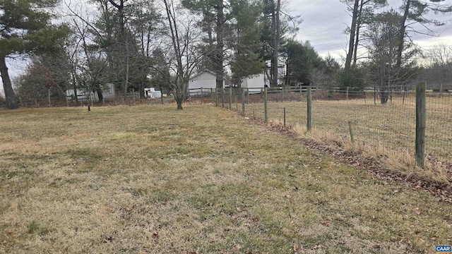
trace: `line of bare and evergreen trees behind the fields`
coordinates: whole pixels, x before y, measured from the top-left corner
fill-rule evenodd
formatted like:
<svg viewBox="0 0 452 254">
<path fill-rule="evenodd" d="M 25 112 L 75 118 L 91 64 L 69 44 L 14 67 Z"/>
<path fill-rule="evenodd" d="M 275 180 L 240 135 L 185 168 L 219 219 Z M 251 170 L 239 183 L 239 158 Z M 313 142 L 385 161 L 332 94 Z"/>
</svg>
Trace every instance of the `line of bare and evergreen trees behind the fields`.
<svg viewBox="0 0 452 254">
<path fill-rule="evenodd" d="M 218 88 L 225 81 L 240 87 L 247 76 L 264 73 L 271 86 L 374 85 L 385 103 L 393 85 L 422 71 L 418 59 L 426 52 L 410 36 L 423 31 L 412 30 L 413 23 L 427 30 L 444 25 L 425 14 L 452 10 L 444 0 L 404 0 L 389 11 L 380 11 L 386 0 L 341 1 L 352 17 L 344 66 L 297 40 L 302 19 L 280 0 L 4 0 L 0 104 L 16 109 L 20 100 L 65 97 L 77 88 L 102 100 L 105 85 L 113 83 L 121 93 L 135 90 L 142 97 L 145 87 L 157 87 L 182 109 L 189 79 L 206 69 L 215 73 Z M 424 71 L 451 65 L 446 48 L 436 56 L 427 52 L 432 61 Z M 438 52 L 442 60 L 434 61 L 441 59 Z M 23 56 L 30 63 L 12 82 L 6 59 Z"/>
</svg>

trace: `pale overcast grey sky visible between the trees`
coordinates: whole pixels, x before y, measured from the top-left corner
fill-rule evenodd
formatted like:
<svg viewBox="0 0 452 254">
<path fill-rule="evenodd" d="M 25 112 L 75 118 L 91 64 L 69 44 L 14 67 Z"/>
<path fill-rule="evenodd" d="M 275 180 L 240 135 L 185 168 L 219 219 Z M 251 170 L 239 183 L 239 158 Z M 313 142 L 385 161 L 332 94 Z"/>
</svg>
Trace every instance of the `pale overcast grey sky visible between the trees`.
<svg viewBox="0 0 452 254">
<path fill-rule="evenodd" d="M 347 35 L 343 31 L 351 23 L 350 15 L 347 13 L 347 6 L 340 3 L 339 0 L 286 1 L 289 3 L 288 9 L 290 13 L 292 15 L 301 15 L 304 20 L 299 25 L 298 39 L 302 41 L 309 40 L 321 56 L 331 54 L 331 56 L 342 63 L 341 59 L 345 56 L 345 47 L 348 41 Z M 389 6 L 385 9 L 398 8 L 401 2 L 401 0 L 389 0 Z M 446 0 L 445 2 L 452 4 L 452 0 Z M 451 15 L 433 17 L 441 21 L 452 19 Z M 420 28 L 420 30 L 427 32 L 423 28 Z M 424 49 L 432 48 L 439 43 L 452 46 L 452 23 L 432 28 L 432 30 L 438 33 L 439 36 L 414 35 L 415 42 Z M 20 60 L 8 61 L 8 67 L 12 77 L 17 76 L 25 68 L 23 61 Z M 0 88 L 0 92 L 2 88 Z"/>
</svg>

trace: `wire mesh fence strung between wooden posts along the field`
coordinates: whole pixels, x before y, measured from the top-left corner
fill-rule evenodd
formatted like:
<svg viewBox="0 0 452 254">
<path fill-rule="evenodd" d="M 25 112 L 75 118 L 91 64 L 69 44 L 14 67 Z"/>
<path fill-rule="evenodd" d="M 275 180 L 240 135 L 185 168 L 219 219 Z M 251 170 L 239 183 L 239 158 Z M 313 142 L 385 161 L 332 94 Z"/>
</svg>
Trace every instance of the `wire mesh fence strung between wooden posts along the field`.
<svg viewBox="0 0 452 254">
<path fill-rule="evenodd" d="M 447 90 L 439 92 L 428 88 L 426 156 L 452 163 L 452 95 Z M 250 94 L 246 89 L 227 88 L 223 95 L 223 107 L 242 111 L 244 102 L 245 116 L 265 118 L 263 93 Z M 382 96 L 387 96 L 386 103 L 381 103 Z M 218 106 L 222 107 L 221 91 L 210 98 L 214 104 L 216 98 Z M 399 87 L 386 94 L 373 88 L 358 92 L 313 90 L 311 105 L 312 128 L 345 139 L 350 138 L 350 122 L 355 143 L 415 155 L 416 96 L 412 88 Z M 307 92 L 299 88 L 269 90 L 267 109 L 268 121 L 306 126 Z"/>
</svg>

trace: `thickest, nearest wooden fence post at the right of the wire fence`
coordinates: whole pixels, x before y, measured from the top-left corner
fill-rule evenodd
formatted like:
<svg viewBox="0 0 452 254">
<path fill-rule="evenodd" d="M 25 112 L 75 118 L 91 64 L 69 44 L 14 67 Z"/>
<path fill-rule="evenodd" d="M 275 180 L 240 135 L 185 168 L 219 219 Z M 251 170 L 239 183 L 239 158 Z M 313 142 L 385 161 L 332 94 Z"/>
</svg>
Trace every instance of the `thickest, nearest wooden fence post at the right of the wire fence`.
<svg viewBox="0 0 452 254">
<path fill-rule="evenodd" d="M 416 84 L 416 165 L 424 168 L 425 152 L 425 82 Z"/>
</svg>

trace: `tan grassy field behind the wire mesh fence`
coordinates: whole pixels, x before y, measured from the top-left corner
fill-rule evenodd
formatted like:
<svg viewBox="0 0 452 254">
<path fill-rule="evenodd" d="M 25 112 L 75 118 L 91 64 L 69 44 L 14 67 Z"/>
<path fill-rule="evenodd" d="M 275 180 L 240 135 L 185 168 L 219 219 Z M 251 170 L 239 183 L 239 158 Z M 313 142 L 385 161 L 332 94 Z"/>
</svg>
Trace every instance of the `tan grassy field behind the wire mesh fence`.
<svg viewBox="0 0 452 254">
<path fill-rule="evenodd" d="M 319 92 L 321 93 L 321 92 Z M 325 96 L 323 96 L 325 97 Z M 362 97 L 362 95 L 360 95 Z M 316 100 L 313 95 L 312 127 L 342 139 L 350 139 L 348 121 L 352 122 L 358 143 L 415 153 L 415 97 L 393 97 L 393 102 L 374 105 L 374 98 L 350 100 Z M 286 109 L 288 124 L 306 125 L 307 103 L 270 102 L 268 119 L 283 122 Z M 246 115 L 264 116 L 263 103 L 246 104 Z M 239 110 L 242 110 L 239 105 Z M 426 153 L 441 162 L 452 163 L 452 97 L 427 97 Z"/>
</svg>

